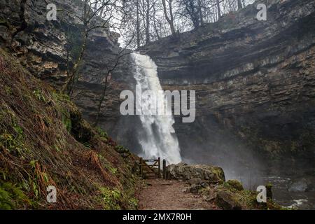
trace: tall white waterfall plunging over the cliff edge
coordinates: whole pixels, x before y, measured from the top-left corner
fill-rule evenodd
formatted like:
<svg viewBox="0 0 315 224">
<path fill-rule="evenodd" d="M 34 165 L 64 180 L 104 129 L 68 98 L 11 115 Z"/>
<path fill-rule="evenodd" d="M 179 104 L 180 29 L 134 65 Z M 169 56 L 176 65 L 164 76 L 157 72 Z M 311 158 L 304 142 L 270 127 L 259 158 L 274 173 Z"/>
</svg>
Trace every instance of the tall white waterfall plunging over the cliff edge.
<svg viewBox="0 0 315 224">
<path fill-rule="evenodd" d="M 141 86 L 141 91 L 152 91 L 155 99 L 165 99 L 165 95 L 158 78 L 157 66 L 148 55 L 133 53 L 132 57 L 135 64 L 134 78 L 137 86 Z M 152 104 L 154 97 L 137 96 L 136 101 L 142 101 L 142 108 L 148 108 Z M 179 141 L 173 128 L 174 118 L 170 115 L 143 115 L 141 108 L 136 109 L 144 129 L 144 133 L 139 136 L 144 158 L 162 158 L 170 164 L 181 162 Z"/>
</svg>

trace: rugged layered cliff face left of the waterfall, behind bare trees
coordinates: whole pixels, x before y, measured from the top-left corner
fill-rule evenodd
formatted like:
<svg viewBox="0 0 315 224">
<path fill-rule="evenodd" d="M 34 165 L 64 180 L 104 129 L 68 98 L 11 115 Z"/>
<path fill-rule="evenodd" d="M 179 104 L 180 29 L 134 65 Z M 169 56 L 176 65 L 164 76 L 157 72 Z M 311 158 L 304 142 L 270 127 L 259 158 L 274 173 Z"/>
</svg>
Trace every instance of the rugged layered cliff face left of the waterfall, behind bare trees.
<svg viewBox="0 0 315 224">
<path fill-rule="evenodd" d="M 0 1 L 0 44 L 10 48 L 36 78 L 59 89 L 66 79 L 67 67 L 72 65 L 71 55 L 80 50 L 81 39 L 80 22 L 75 15 L 65 12 L 80 13 L 82 8 L 70 0 L 49 3 L 57 6 L 57 21 L 46 19 L 49 10 L 45 1 Z M 90 123 L 97 117 L 107 70 L 112 69 L 122 55 L 118 37 L 119 34 L 109 30 L 97 29 L 90 33 L 87 41 L 73 100 Z M 120 57 L 116 69 L 111 72 L 99 116 L 99 126 L 115 135 L 119 132 L 119 125 L 116 125 L 120 120 L 119 95 L 132 83 L 128 64 L 129 55 Z"/>
</svg>

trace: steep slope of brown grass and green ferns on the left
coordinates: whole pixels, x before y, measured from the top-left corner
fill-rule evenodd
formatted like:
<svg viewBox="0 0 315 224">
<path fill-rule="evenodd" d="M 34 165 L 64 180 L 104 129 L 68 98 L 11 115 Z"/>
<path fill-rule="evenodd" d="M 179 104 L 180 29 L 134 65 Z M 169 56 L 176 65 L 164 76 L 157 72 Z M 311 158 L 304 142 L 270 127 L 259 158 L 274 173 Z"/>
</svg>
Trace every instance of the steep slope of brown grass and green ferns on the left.
<svg viewBox="0 0 315 224">
<path fill-rule="evenodd" d="M 136 209 L 134 159 L 0 50 L 0 209 Z"/>
</svg>

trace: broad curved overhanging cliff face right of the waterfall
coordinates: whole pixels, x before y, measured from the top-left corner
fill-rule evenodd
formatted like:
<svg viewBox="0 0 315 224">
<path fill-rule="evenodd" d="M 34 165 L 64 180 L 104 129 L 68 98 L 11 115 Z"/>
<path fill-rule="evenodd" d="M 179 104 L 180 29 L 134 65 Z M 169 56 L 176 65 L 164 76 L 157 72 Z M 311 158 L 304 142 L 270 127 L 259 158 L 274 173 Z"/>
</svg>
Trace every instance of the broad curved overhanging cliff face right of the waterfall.
<svg viewBox="0 0 315 224">
<path fill-rule="evenodd" d="M 186 157 L 222 162 L 248 148 L 314 161 L 315 1 L 258 3 L 266 3 L 267 21 L 256 20 L 254 3 L 141 48 L 165 89 L 196 90 L 195 123 L 175 125 Z"/>
</svg>

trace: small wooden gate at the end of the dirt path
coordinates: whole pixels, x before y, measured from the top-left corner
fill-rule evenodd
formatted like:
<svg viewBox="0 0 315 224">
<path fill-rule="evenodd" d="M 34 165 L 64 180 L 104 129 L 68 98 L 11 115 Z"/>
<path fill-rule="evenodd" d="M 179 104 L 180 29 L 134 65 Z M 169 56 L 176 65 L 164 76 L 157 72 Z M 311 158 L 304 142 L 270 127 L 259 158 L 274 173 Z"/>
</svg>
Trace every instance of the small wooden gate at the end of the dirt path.
<svg viewBox="0 0 315 224">
<path fill-rule="evenodd" d="M 139 174 L 144 179 L 161 178 L 161 160 L 139 160 Z"/>
</svg>

